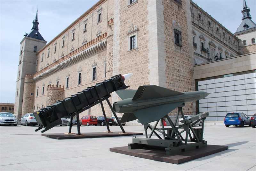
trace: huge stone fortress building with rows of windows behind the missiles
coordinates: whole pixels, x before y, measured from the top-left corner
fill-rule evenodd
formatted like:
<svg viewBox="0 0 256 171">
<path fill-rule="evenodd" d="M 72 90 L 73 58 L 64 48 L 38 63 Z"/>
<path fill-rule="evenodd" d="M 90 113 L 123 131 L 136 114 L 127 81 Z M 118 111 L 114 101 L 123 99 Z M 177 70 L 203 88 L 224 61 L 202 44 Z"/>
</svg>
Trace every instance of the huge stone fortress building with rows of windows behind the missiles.
<svg viewBox="0 0 256 171">
<path fill-rule="evenodd" d="M 202 21 L 195 17 L 199 13 Z M 211 27 L 205 24 L 208 21 Z M 39 24 L 37 14 L 34 22 L 32 32 L 37 28 L 34 25 Z M 216 32 L 217 27 L 220 33 Z M 195 63 L 216 60 L 214 57 L 220 51 L 223 57 L 239 54 L 238 39 L 190 0 L 100 0 L 47 45 L 41 35 L 37 38 L 29 35 L 25 35 L 24 40 L 31 40 L 26 45 L 22 41 L 21 46 L 35 46 L 34 39 L 42 46 L 37 45 L 33 53 L 33 66 L 23 62 L 30 70 L 23 69 L 19 79 L 32 74 L 33 77 L 27 76 L 33 78 L 33 86 L 25 87 L 24 82 L 17 81 L 19 96 L 15 99 L 15 114 L 19 116 L 117 74 L 133 73 L 125 81 L 130 89 L 150 84 L 181 92 L 193 91 Z M 206 53 L 201 51 L 201 41 L 207 45 Z M 113 93 L 110 102 L 117 100 L 119 97 Z M 107 104 L 103 105 L 106 114 L 111 116 Z M 26 106 L 24 112 L 23 106 Z M 187 103 L 184 112 L 195 113 L 196 104 Z M 86 114 L 102 115 L 100 104 L 81 116 Z"/>
</svg>

